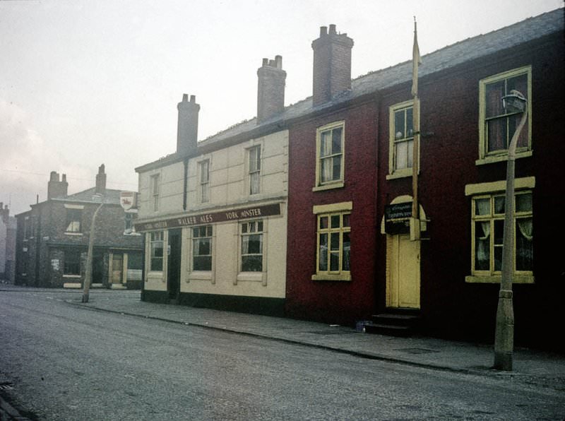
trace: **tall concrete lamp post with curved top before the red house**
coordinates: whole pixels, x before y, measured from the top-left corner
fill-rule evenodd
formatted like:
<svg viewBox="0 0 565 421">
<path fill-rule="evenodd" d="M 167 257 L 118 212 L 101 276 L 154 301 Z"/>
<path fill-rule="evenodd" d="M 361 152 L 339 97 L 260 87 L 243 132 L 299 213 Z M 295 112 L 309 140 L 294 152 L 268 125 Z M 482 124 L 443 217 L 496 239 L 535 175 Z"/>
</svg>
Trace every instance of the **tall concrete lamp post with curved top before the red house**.
<svg viewBox="0 0 565 421">
<path fill-rule="evenodd" d="M 506 113 L 522 113 L 520 123 L 508 147 L 506 164 L 506 198 L 504 201 L 504 237 L 502 239 L 502 278 L 500 281 L 499 303 L 496 310 L 494 332 L 494 368 L 512 371 L 514 348 L 514 309 L 512 303 L 512 280 L 514 274 L 514 161 L 518 137 L 528 118 L 527 101 L 520 92 L 511 90 L 502 98 Z"/>
</svg>

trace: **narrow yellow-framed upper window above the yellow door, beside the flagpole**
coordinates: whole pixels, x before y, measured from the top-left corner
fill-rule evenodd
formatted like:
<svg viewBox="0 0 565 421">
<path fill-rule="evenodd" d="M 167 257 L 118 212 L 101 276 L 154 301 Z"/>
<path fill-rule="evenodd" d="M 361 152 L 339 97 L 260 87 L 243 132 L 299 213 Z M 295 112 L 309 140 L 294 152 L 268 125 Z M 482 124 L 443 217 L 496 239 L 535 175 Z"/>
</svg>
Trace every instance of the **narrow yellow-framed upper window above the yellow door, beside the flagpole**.
<svg viewBox="0 0 565 421">
<path fill-rule="evenodd" d="M 388 109 L 388 174 L 412 175 L 414 156 L 414 101 L 402 102 Z"/>
</svg>

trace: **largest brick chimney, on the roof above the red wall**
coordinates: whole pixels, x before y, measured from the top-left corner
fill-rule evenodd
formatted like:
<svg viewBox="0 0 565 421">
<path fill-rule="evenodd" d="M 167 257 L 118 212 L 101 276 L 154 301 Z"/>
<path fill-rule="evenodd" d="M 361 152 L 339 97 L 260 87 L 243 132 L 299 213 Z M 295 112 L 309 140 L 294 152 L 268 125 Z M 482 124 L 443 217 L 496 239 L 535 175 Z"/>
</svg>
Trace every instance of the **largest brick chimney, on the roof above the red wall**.
<svg viewBox="0 0 565 421">
<path fill-rule="evenodd" d="M 313 104 L 329 102 L 351 89 L 351 49 L 353 40 L 335 32 L 335 25 L 320 28 L 320 37 L 312 42 L 314 49 Z"/>
</svg>

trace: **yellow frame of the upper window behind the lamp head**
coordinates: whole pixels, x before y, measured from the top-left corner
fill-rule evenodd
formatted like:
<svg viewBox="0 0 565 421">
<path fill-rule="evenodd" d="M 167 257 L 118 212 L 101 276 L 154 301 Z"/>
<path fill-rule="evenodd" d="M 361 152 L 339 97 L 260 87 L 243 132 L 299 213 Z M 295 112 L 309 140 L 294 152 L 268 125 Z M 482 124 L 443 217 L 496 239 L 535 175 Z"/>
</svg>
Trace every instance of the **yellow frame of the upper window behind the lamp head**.
<svg viewBox="0 0 565 421">
<path fill-rule="evenodd" d="M 487 118 L 487 85 L 492 83 L 506 81 L 511 78 L 516 78 L 518 76 L 525 75 L 527 77 L 528 88 L 525 95 L 528 107 L 528 120 L 524 129 L 528 130 L 527 136 L 527 146 L 518 146 L 516 148 L 516 158 L 524 158 L 531 156 L 533 154 L 532 148 L 532 66 L 523 66 L 516 69 L 511 69 L 509 71 L 504 71 L 502 73 L 497 73 L 496 75 L 483 78 L 479 81 L 479 159 L 475 162 L 476 165 L 489 164 L 492 162 L 499 162 L 506 160 L 508 158 L 508 145 L 511 141 L 513 134 L 506 131 L 506 149 L 499 150 L 488 150 L 488 121 L 500 118 L 506 118 L 508 127 L 508 118 L 516 113 L 509 114 L 499 114 L 496 117 Z M 505 88 L 506 90 L 506 88 Z M 502 98 L 501 98 L 502 100 Z"/>
</svg>

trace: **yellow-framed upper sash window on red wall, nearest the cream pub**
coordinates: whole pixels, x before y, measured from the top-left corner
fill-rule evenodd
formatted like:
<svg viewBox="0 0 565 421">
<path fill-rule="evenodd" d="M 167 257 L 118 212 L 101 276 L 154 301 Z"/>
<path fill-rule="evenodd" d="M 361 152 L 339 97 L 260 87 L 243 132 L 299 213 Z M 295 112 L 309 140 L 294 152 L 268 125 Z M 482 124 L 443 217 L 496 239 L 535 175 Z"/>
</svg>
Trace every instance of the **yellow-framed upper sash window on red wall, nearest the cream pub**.
<svg viewBox="0 0 565 421">
<path fill-rule="evenodd" d="M 328 124 L 316 131 L 315 190 L 343 186 L 344 147 L 344 121 Z"/>
</svg>

